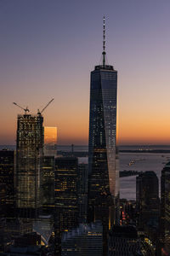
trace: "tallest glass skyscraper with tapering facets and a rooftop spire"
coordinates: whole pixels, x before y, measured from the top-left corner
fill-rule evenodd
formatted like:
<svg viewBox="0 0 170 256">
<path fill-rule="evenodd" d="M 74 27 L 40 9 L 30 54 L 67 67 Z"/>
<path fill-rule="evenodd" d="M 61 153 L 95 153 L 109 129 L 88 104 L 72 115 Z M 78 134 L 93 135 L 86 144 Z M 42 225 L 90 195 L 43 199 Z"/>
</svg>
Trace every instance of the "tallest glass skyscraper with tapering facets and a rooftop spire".
<svg viewBox="0 0 170 256">
<path fill-rule="evenodd" d="M 105 17 L 103 38 L 103 63 L 95 66 L 90 84 L 88 221 L 102 221 L 106 244 L 108 230 L 116 222 L 119 173 L 116 168 L 117 72 L 105 63 Z"/>
</svg>

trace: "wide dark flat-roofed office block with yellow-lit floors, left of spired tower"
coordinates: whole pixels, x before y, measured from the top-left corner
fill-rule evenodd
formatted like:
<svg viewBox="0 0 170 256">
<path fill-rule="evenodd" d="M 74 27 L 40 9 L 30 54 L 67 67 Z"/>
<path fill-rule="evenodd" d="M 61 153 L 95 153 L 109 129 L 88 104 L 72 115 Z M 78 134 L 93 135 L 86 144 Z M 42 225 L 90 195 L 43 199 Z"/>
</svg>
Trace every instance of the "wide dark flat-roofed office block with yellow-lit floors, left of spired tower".
<svg viewBox="0 0 170 256">
<path fill-rule="evenodd" d="M 78 160 L 75 157 L 55 159 L 54 203 L 55 245 L 59 254 L 62 233 L 78 224 Z"/>
</svg>

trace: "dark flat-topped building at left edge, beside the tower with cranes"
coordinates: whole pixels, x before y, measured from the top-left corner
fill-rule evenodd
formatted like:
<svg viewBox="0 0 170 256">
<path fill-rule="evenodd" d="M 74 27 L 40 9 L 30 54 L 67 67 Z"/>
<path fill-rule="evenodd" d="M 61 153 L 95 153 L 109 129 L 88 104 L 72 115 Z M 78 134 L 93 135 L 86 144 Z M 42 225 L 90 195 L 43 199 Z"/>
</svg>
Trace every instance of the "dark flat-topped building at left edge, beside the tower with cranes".
<svg viewBox="0 0 170 256">
<path fill-rule="evenodd" d="M 14 217 L 14 151 L 0 150 L 0 217 Z"/>
</svg>

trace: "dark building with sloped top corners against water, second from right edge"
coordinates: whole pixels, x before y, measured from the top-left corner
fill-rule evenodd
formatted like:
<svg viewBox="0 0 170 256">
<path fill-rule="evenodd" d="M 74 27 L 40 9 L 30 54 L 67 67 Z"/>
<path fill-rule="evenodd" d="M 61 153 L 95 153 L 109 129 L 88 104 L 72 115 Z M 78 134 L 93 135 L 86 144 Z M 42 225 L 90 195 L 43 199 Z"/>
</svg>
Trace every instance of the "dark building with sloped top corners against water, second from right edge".
<svg viewBox="0 0 170 256">
<path fill-rule="evenodd" d="M 143 233 L 147 255 L 155 255 L 160 218 L 159 183 L 155 172 L 144 172 L 136 178 L 136 205 L 138 230 Z"/>
</svg>

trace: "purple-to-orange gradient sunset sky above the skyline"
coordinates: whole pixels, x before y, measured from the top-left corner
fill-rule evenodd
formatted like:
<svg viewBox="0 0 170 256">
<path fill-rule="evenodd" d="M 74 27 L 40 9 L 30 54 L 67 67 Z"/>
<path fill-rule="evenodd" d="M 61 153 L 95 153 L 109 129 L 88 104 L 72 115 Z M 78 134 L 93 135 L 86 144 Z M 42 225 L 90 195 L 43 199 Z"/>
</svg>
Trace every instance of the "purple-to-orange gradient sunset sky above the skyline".
<svg viewBox="0 0 170 256">
<path fill-rule="evenodd" d="M 170 143 L 169 0 L 0 0 L 0 144 L 17 114 L 54 97 L 44 125 L 59 144 L 88 144 L 90 71 L 102 52 L 118 71 L 118 142 Z"/>
</svg>

